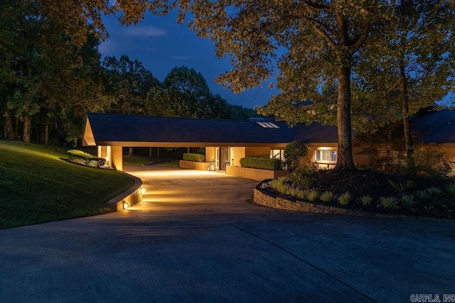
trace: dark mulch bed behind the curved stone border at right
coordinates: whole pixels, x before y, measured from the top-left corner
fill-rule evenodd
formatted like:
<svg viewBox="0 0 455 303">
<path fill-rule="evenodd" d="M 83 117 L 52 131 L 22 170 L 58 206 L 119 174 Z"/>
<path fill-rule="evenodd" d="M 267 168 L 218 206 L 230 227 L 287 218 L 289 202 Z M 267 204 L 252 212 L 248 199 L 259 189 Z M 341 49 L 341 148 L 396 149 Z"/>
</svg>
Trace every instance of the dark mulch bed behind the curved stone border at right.
<svg viewBox="0 0 455 303">
<path fill-rule="evenodd" d="M 362 209 L 385 214 L 404 214 L 411 216 L 431 216 L 435 218 L 455 218 L 455 195 L 449 193 L 446 187 L 454 184 L 453 178 L 423 177 L 370 172 L 365 170 L 318 170 L 306 177 L 304 189 L 316 189 L 319 194 L 332 192 L 336 196 L 350 192 L 353 197 L 347 205 L 350 209 Z M 441 193 L 426 201 L 416 197 L 417 191 L 430 187 L 441 189 Z M 266 188 L 277 194 L 271 187 Z M 385 209 L 382 207 L 381 197 L 395 197 L 398 200 L 403 194 L 412 194 L 415 203 L 412 206 L 400 204 L 398 209 Z M 360 197 L 370 196 L 373 202 L 365 206 L 360 202 Z M 328 204 L 337 204 L 336 201 Z"/>
</svg>

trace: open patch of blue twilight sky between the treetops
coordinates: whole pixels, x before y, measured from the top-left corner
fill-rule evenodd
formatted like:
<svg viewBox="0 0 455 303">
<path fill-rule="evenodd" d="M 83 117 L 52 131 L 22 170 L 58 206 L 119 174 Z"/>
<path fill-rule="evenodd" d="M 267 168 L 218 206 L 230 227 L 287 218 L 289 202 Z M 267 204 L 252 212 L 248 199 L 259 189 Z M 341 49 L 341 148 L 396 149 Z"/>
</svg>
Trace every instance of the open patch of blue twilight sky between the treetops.
<svg viewBox="0 0 455 303">
<path fill-rule="evenodd" d="M 254 108 L 265 105 L 276 90 L 269 82 L 241 94 L 215 83 L 215 77 L 231 69 L 228 58 L 215 57 L 215 48 L 208 39 L 199 38 L 186 25 L 176 23 L 175 15 L 166 17 L 146 14 L 138 26 L 120 26 L 117 19 L 105 18 L 109 38 L 100 45 L 103 56 L 128 55 L 137 59 L 160 81 L 173 67 L 186 65 L 200 72 L 214 94 L 220 94 L 230 104 Z"/>
</svg>

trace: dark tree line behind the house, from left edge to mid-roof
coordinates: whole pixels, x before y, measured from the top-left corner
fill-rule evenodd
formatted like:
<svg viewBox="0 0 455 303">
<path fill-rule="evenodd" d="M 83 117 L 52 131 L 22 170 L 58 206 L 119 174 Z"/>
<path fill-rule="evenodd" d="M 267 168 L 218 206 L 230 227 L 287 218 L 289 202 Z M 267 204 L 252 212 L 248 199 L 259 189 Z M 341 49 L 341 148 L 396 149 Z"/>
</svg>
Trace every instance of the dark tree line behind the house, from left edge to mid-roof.
<svg viewBox="0 0 455 303">
<path fill-rule="evenodd" d="M 0 3 L 0 138 L 75 144 L 89 111 L 215 119 L 255 115 L 210 92 L 192 68 L 175 67 L 160 82 L 126 55 L 102 59 L 100 27 L 72 28 L 59 17 L 65 5 L 70 2 Z"/>
</svg>

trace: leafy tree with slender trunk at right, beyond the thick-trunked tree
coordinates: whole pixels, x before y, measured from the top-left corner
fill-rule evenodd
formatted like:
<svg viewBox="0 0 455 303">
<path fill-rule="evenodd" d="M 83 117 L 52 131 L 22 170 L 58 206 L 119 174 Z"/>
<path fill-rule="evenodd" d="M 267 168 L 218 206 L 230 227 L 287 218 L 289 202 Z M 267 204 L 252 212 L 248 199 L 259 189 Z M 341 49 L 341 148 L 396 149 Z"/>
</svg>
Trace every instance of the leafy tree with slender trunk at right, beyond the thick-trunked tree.
<svg viewBox="0 0 455 303">
<path fill-rule="evenodd" d="M 451 1 L 400 0 L 393 15 L 375 28 L 355 65 L 355 100 L 368 104 L 372 131 L 402 119 L 407 166 L 414 167 L 410 115 L 441 101 L 454 87 L 455 11 Z"/>
</svg>

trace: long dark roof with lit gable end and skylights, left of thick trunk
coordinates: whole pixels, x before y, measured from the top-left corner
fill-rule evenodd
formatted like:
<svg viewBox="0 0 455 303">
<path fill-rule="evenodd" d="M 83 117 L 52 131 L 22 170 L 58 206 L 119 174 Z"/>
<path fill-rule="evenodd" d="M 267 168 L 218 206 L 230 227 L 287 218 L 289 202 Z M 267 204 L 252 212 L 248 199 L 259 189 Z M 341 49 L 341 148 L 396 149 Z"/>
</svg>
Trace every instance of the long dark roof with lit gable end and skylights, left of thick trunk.
<svg viewBox="0 0 455 303">
<path fill-rule="evenodd" d="M 336 127 L 313 123 L 290 128 L 285 122 L 87 114 L 84 145 L 274 147 L 294 140 L 336 143 Z"/>
</svg>

